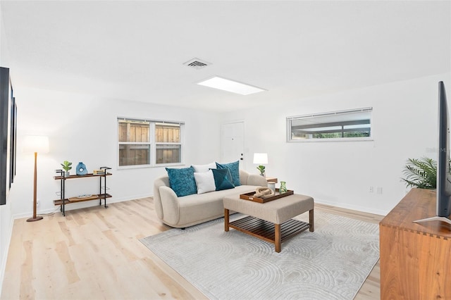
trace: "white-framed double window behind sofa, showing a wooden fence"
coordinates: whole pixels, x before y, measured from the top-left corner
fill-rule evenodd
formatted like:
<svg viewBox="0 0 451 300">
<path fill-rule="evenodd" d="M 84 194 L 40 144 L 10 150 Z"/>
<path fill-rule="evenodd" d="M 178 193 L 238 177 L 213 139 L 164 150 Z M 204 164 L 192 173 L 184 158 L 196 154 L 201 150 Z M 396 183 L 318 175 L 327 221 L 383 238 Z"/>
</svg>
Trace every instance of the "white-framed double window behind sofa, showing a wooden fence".
<svg viewBox="0 0 451 300">
<path fill-rule="evenodd" d="M 118 118 L 118 165 L 182 163 L 183 122 Z"/>
</svg>

